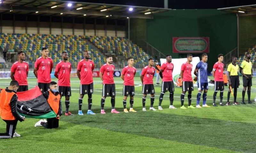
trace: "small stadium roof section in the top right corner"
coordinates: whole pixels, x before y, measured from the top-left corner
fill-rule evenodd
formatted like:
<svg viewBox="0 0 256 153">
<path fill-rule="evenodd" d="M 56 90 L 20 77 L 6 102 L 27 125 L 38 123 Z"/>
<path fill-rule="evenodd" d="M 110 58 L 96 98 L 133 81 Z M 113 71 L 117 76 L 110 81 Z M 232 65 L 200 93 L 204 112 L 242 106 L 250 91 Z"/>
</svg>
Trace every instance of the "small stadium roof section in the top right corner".
<svg viewBox="0 0 256 153">
<path fill-rule="evenodd" d="M 218 10 L 237 13 L 238 16 L 256 15 L 256 4 L 220 8 Z"/>
</svg>

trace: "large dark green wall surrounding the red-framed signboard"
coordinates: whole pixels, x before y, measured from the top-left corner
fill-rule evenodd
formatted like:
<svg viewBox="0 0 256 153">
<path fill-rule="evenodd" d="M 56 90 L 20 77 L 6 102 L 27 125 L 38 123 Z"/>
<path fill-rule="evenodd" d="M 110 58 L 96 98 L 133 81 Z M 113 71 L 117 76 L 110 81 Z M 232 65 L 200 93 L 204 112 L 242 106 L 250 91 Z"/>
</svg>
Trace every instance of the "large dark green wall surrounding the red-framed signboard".
<svg viewBox="0 0 256 153">
<path fill-rule="evenodd" d="M 173 58 L 184 57 L 172 53 L 172 37 L 210 37 L 210 68 L 218 54 L 225 55 L 237 47 L 236 14 L 219 10 L 171 10 L 147 19 L 147 41 Z"/>
</svg>

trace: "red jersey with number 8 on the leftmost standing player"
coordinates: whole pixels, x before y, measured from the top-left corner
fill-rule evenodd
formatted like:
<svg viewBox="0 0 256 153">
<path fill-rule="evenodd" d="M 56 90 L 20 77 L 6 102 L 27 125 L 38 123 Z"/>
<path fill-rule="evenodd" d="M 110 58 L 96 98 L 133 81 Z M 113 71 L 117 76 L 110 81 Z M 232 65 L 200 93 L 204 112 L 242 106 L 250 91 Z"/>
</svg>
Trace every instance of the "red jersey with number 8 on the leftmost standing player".
<svg viewBox="0 0 256 153">
<path fill-rule="evenodd" d="M 23 61 L 15 62 L 12 64 L 11 72 L 14 73 L 14 79 L 18 81 L 19 85 L 28 85 L 27 72 L 28 72 L 28 63 Z"/>
</svg>

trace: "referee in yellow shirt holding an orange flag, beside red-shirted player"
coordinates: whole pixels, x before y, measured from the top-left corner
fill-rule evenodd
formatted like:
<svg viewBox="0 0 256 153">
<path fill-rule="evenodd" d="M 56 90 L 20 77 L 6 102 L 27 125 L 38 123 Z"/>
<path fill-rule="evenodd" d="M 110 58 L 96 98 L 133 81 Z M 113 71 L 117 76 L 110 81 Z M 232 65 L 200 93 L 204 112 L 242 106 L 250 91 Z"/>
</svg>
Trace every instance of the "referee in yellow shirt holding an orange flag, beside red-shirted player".
<svg viewBox="0 0 256 153">
<path fill-rule="evenodd" d="M 237 59 L 236 56 L 232 56 L 232 63 L 228 65 L 228 100 L 227 100 L 227 106 L 230 105 L 229 98 L 230 98 L 230 87 L 234 89 L 234 102 L 233 105 L 238 105 L 238 102 L 236 102 L 236 95 L 237 95 L 237 88 L 239 87 L 239 75 L 238 70 L 239 66 L 236 64 Z"/>
</svg>

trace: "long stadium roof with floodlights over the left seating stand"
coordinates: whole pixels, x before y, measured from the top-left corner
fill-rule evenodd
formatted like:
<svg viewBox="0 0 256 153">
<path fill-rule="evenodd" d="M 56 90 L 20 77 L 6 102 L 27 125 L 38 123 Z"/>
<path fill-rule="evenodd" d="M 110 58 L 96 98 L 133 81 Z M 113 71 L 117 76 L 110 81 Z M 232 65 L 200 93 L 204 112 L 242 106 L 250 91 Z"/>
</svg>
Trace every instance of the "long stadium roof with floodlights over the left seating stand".
<svg viewBox="0 0 256 153">
<path fill-rule="evenodd" d="M 86 17 L 91 18 L 106 18 L 108 16 L 108 18 L 113 19 L 127 17 L 153 18 L 153 15 L 156 13 L 171 10 L 164 8 L 72 2 L 62 0 L 0 0 L 0 3 L 0 13 L 76 17 L 83 17 L 86 14 Z M 71 7 L 68 7 L 69 3 L 72 4 Z M 129 8 L 133 8 L 133 10 L 129 11 Z"/>
</svg>

